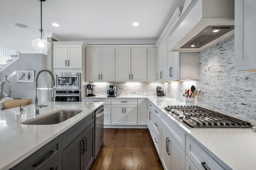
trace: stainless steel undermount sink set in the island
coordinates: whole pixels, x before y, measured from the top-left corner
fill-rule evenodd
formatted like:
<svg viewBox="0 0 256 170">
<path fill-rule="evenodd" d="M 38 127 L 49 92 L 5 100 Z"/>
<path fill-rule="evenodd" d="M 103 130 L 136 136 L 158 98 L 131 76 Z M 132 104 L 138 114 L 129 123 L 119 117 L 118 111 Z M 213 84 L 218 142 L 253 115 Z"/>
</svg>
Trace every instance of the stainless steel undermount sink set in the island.
<svg viewBox="0 0 256 170">
<path fill-rule="evenodd" d="M 79 109 L 68 109 L 68 110 L 57 110 L 34 119 L 30 119 L 22 122 L 21 124 L 25 125 L 52 125 L 61 123 L 78 113 L 81 113 L 83 110 Z"/>
</svg>

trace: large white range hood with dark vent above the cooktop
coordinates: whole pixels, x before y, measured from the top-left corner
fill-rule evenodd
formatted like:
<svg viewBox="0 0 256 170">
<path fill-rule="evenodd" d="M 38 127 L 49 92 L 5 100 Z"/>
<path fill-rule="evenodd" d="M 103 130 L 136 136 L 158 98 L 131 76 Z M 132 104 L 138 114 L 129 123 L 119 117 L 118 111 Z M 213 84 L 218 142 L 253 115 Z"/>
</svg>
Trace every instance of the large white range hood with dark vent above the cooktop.
<svg viewBox="0 0 256 170">
<path fill-rule="evenodd" d="M 168 51 L 200 52 L 234 34 L 234 0 L 186 0 L 184 8 Z"/>
</svg>

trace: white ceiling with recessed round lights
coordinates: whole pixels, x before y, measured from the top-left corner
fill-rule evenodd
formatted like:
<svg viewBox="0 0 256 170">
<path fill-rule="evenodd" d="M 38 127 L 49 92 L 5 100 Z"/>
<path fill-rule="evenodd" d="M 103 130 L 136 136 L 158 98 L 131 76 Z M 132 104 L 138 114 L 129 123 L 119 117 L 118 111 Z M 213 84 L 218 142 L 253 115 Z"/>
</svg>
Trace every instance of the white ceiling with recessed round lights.
<svg viewBox="0 0 256 170">
<path fill-rule="evenodd" d="M 177 6 L 183 6 L 184 1 L 46 0 L 42 2 L 42 28 L 46 35 L 61 41 L 155 43 Z M 134 27 L 133 22 L 140 25 Z M 17 27 L 15 23 L 28 27 Z M 0 0 L 0 47 L 36 53 L 31 40 L 39 37 L 39 29 L 40 0 Z"/>
</svg>

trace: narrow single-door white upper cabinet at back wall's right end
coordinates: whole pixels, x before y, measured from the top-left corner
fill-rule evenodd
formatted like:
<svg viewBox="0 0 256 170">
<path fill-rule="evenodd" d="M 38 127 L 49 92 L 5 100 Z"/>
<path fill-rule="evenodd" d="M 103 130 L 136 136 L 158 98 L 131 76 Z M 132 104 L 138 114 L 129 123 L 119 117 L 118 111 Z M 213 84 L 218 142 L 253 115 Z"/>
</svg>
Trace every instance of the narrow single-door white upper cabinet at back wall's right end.
<svg viewBox="0 0 256 170">
<path fill-rule="evenodd" d="M 148 48 L 148 78 L 147 82 L 156 81 L 156 48 Z"/>
</svg>

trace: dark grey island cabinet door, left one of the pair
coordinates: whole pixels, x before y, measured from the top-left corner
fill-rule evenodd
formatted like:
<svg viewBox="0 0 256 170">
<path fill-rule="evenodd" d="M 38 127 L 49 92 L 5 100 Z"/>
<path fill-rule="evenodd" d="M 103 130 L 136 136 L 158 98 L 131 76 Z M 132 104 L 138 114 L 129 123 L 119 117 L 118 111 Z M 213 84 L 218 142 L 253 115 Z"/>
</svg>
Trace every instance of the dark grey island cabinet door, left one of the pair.
<svg viewBox="0 0 256 170">
<path fill-rule="evenodd" d="M 62 170 L 82 170 L 83 139 L 81 134 L 62 152 Z"/>
</svg>

